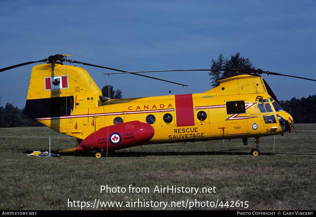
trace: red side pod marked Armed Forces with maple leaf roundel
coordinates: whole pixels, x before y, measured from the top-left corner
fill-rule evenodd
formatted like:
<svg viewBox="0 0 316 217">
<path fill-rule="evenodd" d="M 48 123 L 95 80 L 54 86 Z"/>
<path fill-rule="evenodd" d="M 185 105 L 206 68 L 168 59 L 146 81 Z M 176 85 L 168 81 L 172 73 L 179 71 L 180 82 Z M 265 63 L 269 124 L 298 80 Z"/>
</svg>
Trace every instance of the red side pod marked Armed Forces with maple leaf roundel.
<svg viewBox="0 0 316 217">
<path fill-rule="evenodd" d="M 148 142 L 155 134 L 154 128 L 138 120 L 100 128 L 79 145 L 84 150 L 118 150 Z"/>
</svg>

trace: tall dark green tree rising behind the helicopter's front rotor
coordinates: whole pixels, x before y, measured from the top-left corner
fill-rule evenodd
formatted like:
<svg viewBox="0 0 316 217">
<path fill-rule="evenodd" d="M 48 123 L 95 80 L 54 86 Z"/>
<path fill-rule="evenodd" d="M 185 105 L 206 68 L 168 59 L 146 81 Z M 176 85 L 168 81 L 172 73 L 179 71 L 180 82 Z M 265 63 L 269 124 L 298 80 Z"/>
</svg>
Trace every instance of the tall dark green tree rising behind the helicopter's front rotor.
<svg viewBox="0 0 316 217">
<path fill-rule="evenodd" d="M 253 68 L 256 67 L 252 66 L 252 62 L 250 62 L 249 58 L 245 58 L 240 56 L 240 53 L 237 52 L 235 55 L 232 55 L 230 60 L 227 58 L 225 59 L 221 54 L 217 60 L 211 61 L 212 65 L 210 67 L 212 69 L 246 69 L 246 68 Z M 210 84 L 213 87 L 217 87 L 219 85 L 218 80 L 230 78 L 233 76 L 237 76 L 243 74 L 243 72 L 232 72 L 232 71 L 210 71 L 209 75 L 211 76 Z"/>
</svg>

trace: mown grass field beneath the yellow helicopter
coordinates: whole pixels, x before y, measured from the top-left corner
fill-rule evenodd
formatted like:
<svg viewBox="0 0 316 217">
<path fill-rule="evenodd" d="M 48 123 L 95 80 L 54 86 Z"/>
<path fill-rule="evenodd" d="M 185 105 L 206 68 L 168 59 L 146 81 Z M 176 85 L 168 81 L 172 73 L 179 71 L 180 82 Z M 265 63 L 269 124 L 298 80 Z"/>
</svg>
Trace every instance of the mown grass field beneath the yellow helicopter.
<svg viewBox="0 0 316 217">
<path fill-rule="evenodd" d="M 51 158 L 27 154 L 49 150 L 49 137 L 52 150 L 75 139 L 47 127 L 0 128 L 0 210 L 315 210 L 316 124 L 295 129 L 261 138 L 259 156 L 250 155 L 255 139 L 239 139 Z M 167 187 L 173 192 L 161 192 Z"/>
</svg>

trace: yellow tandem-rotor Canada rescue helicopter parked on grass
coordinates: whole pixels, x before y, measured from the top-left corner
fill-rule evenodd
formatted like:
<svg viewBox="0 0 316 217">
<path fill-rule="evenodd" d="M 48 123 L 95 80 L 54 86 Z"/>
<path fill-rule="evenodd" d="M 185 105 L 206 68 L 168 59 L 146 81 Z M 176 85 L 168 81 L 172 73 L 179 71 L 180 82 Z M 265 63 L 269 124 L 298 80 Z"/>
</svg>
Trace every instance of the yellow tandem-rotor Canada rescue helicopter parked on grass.
<svg viewBox="0 0 316 217">
<path fill-rule="evenodd" d="M 25 114 L 57 132 L 78 139 L 78 147 L 58 151 L 57 154 L 94 151 L 95 157 L 102 157 L 114 150 L 145 144 L 242 138 L 246 145 L 248 138 L 255 138 L 256 148 L 251 150 L 251 154 L 259 155 L 259 137 L 292 130 L 292 116 L 281 108 L 274 93 L 259 75 L 283 74 L 261 69 L 233 69 L 230 71 L 243 71 L 245 74 L 220 80 L 219 86 L 204 93 L 110 99 L 102 96 L 100 88 L 86 70 L 64 65 L 63 62 L 149 76 L 138 74 L 143 72 L 127 72 L 68 60 L 66 56 L 70 55 L 58 54 L 0 69 L 3 72 L 45 62 L 33 67 Z"/>
</svg>

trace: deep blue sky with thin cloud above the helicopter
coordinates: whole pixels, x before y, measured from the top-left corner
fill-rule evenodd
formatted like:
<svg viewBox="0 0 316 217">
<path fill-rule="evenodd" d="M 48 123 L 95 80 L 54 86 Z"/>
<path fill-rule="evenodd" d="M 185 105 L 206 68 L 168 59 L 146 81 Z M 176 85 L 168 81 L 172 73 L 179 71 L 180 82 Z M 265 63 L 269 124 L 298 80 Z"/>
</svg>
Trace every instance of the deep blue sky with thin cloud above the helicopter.
<svg viewBox="0 0 316 217">
<path fill-rule="evenodd" d="M 240 52 L 264 71 L 316 79 L 314 1 L 18 1 L 2 0 L 0 68 L 54 54 L 125 71 L 210 68 Z M 124 98 L 205 92 L 208 72 L 148 73 L 189 85 L 86 69 Z M 1 105 L 23 108 L 32 67 L 0 73 Z M 279 100 L 316 94 L 313 81 L 262 77 Z"/>
</svg>

